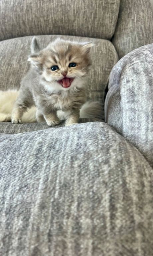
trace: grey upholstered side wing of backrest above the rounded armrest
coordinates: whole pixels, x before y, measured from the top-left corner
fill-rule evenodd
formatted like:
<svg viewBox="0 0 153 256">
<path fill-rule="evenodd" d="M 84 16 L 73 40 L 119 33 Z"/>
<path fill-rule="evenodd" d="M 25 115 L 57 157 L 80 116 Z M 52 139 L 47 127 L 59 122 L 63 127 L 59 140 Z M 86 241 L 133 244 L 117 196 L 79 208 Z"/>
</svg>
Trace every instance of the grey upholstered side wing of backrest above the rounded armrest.
<svg viewBox="0 0 153 256">
<path fill-rule="evenodd" d="M 113 44 L 119 58 L 130 51 L 153 43 L 150 0 L 121 0 Z"/>
</svg>

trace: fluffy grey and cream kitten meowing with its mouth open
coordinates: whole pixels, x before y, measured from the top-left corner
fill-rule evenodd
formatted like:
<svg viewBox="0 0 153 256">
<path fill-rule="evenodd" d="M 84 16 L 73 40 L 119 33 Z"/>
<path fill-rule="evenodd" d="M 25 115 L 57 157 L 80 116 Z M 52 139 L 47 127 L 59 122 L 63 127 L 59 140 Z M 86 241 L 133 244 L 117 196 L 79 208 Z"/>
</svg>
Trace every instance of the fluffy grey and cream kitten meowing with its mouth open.
<svg viewBox="0 0 153 256">
<path fill-rule="evenodd" d="M 60 38 L 39 51 L 36 38 L 29 57 L 31 69 L 21 82 L 19 95 L 12 112 L 12 123 L 21 123 L 27 108 L 37 107 L 37 122 L 49 126 L 78 123 L 79 111 L 85 103 L 85 77 L 90 65 L 92 43 L 65 41 Z M 61 118 L 62 119 L 62 118 Z"/>
</svg>

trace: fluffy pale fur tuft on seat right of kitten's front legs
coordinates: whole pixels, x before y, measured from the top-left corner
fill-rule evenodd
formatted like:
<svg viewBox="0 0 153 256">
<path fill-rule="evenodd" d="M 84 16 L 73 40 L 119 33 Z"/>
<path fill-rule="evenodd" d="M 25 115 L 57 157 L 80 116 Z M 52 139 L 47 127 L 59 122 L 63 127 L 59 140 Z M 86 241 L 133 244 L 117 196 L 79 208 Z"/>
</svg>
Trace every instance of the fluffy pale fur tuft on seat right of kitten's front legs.
<svg viewBox="0 0 153 256">
<path fill-rule="evenodd" d="M 87 101 L 80 109 L 80 118 L 103 118 L 102 104 L 98 101 Z"/>
</svg>

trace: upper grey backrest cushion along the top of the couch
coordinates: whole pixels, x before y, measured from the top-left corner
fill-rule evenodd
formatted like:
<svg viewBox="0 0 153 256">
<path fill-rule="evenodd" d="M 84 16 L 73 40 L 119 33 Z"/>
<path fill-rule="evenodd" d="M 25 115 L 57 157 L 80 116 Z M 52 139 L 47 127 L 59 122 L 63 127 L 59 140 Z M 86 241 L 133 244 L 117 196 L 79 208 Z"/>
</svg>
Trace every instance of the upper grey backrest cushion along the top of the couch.
<svg viewBox="0 0 153 256">
<path fill-rule="evenodd" d="M 1 0 L 0 39 L 62 34 L 110 39 L 120 0 Z"/>
</svg>

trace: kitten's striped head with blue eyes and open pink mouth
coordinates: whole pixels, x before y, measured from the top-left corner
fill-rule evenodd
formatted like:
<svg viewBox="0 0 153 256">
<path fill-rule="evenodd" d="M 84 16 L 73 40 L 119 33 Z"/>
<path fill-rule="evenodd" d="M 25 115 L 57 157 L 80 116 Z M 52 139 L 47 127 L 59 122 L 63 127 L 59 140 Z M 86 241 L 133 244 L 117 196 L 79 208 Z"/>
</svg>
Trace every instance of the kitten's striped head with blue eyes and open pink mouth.
<svg viewBox="0 0 153 256">
<path fill-rule="evenodd" d="M 56 90 L 80 88 L 90 66 L 92 46 L 91 42 L 77 43 L 58 38 L 28 60 L 48 87 Z"/>
</svg>

